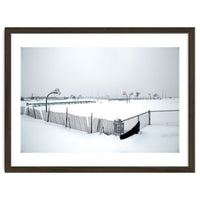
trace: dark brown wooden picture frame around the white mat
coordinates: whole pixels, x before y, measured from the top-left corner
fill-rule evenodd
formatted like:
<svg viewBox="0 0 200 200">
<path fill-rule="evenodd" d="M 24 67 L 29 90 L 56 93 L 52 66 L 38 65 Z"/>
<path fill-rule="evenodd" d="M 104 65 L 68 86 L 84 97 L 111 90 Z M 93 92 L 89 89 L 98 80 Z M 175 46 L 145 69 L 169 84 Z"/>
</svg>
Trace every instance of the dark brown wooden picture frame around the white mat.
<svg viewBox="0 0 200 200">
<path fill-rule="evenodd" d="M 188 34 L 188 166 L 12 166 L 12 34 Z M 5 28 L 5 172 L 195 172 L 195 28 Z"/>
</svg>

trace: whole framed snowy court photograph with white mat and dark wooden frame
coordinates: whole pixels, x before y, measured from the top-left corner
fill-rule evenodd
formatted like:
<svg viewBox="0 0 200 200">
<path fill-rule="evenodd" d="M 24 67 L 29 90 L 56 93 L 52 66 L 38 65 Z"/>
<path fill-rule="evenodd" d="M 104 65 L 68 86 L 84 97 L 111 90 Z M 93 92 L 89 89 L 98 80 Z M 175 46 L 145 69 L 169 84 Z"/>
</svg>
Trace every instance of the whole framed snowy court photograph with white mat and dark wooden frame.
<svg viewBox="0 0 200 200">
<path fill-rule="evenodd" d="M 195 172 L 195 28 L 5 28 L 5 172 Z"/>
</svg>

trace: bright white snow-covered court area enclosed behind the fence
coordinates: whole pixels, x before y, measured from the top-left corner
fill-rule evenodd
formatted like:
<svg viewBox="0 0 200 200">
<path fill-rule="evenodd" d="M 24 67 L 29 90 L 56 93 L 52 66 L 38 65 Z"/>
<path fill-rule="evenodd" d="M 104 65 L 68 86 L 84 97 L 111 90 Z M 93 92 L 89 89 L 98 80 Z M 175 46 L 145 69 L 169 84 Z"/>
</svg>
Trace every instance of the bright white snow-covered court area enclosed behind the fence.
<svg viewBox="0 0 200 200">
<path fill-rule="evenodd" d="M 59 100 L 61 101 L 61 100 Z M 63 100 L 72 101 L 72 100 Z M 45 101 L 28 101 L 28 103 L 38 103 Z M 54 101 L 48 101 L 54 102 Z M 24 106 L 26 102 L 22 102 Z M 126 119 L 134 115 L 146 112 L 148 110 L 176 110 L 179 109 L 179 99 L 162 99 L 162 100 L 131 100 L 126 101 L 107 101 L 99 100 L 97 103 L 89 104 L 65 104 L 65 105 L 50 105 L 50 110 L 55 112 L 68 112 L 79 116 L 90 116 L 93 113 L 94 117 L 114 120 L 116 118 Z M 36 107 L 39 110 L 45 110 L 44 106 Z"/>
</svg>

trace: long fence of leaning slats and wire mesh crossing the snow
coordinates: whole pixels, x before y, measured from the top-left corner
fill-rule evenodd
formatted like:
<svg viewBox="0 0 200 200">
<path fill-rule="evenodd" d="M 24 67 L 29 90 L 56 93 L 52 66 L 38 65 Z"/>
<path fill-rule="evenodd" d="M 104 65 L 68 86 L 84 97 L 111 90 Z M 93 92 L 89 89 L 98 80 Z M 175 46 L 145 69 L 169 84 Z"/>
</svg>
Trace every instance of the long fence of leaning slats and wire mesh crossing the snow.
<svg viewBox="0 0 200 200">
<path fill-rule="evenodd" d="M 36 119 L 43 119 L 47 122 L 52 122 L 66 127 L 85 131 L 88 133 L 101 132 L 107 135 L 120 135 L 131 130 L 138 121 L 140 121 L 140 129 L 144 128 L 147 125 L 179 125 L 179 110 L 153 110 L 147 111 L 124 120 L 115 121 L 102 119 L 102 118 L 93 118 L 93 115 L 90 117 L 83 117 L 72 115 L 68 113 L 61 112 L 52 112 L 48 110 L 40 111 L 34 108 L 21 107 L 21 114 L 29 115 Z M 120 123 L 121 124 L 120 124 Z M 121 132 L 116 132 L 116 126 L 119 126 L 118 130 L 122 128 Z M 120 127 L 121 126 L 121 127 Z M 115 128 L 114 128 L 115 127 Z"/>
</svg>

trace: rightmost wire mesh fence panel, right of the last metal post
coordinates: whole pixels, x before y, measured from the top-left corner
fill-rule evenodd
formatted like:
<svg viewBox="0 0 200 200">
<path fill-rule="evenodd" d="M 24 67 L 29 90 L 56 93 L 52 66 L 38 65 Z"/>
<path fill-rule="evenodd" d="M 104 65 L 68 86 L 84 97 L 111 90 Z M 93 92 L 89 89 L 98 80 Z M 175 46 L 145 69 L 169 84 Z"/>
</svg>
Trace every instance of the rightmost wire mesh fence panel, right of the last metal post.
<svg viewBox="0 0 200 200">
<path fill-rule="evenodd" d="M 151 111 L 151 124 L 178 126 L 179 111 Z"/>
</svg>

